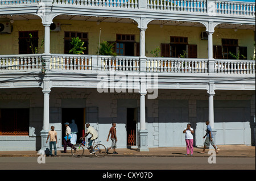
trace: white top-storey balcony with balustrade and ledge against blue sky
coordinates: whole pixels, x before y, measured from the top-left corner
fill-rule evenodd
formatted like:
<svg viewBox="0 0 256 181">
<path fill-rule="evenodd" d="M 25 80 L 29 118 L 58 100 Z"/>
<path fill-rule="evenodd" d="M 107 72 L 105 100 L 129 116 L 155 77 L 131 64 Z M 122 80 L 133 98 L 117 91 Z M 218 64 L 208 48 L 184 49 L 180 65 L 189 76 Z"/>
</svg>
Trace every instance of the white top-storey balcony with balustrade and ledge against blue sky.
<svg viewBox="0 0 256 181">
<path fill-rule="evenodd" d="M 255 17 L 255 2 L 215 0 L 0 0 L 1 14 L 38 14 L 51 12 L 80 14 L 80 11 L 112 11 L 127 16 L 154 16 L 157 13 L 180 15 L 203 15 L 214 17 Z M 76 10 L 71 12 L 72 10 Z"/>
</svg>

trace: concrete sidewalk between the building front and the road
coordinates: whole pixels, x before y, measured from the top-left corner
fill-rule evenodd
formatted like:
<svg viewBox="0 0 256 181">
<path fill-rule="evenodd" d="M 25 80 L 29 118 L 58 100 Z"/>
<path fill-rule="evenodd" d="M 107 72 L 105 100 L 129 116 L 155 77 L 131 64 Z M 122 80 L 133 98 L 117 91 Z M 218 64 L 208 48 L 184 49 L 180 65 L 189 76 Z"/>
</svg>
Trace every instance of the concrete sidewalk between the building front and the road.
<svg viewBox="0 0 256 181">
<path fill-rule="evenodd" d="M 255 146 L 246 145 L 220 145 L 220 149 L 217 157 L 251 157 L 255 158 Z M 194 153 L 192 157 L 209 157 L 208 149 L 205 150 L 205 154 L 200 152 L 203 148 L 194 148 Z M 52 150 L 54 153 L 54 150 Z M 191 157 L 191 155 L 186 154 L 185 147 L 168 147 L 168 148 L 149 148 L 149 151 L 140 152 L 136 149 L 118 149 L 118 154 L 112 154 L 113 150 L 110 150 L 107 157 L 120 157 L 120 156 L 133 156 L 133 157 Z M 71 157 L 71 150 L 67 150 L 67 153 L 62 153 L 61 150 L 57 150 L 57 155 L 59 157 Z M 89 151 L 85 151 L 86 156 L 90 155 Z M 0 151 L 0 157 L 38 157 L 38 151 Z"/>
</svg>

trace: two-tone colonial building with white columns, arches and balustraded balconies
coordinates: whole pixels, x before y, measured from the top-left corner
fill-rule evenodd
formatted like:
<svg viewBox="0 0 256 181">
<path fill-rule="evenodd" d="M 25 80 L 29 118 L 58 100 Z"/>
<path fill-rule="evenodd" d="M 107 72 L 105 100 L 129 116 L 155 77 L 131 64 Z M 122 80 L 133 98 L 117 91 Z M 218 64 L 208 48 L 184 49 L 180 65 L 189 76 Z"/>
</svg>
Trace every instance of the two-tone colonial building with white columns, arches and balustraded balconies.
<svg viewBox="0 0 256 181">
<path fill-rule="evenodd" d="M 84 54 L 70 54 L 72 37 Z M 99 55 L 102 41 L 117 56 Z M 254 60 L 253 60 L 254 58 Z M 255 2 L 0 0 L 0 150 L 61 149 L 75 119 L 118 148 L 255 144 Z"/>
</svg>

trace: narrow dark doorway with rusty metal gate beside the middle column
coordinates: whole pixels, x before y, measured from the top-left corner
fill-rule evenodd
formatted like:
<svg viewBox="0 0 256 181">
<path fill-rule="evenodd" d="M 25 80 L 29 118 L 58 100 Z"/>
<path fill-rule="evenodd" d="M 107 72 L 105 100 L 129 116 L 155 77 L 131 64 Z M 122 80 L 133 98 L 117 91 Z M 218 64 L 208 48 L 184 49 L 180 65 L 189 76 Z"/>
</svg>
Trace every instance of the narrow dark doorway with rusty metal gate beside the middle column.
<svg viewBox="0 0 256 181">
<path fill-rule="evenodd" d="M 137 108 L 127 108 L 127 146 L 136 146 Z"/>
</svg>

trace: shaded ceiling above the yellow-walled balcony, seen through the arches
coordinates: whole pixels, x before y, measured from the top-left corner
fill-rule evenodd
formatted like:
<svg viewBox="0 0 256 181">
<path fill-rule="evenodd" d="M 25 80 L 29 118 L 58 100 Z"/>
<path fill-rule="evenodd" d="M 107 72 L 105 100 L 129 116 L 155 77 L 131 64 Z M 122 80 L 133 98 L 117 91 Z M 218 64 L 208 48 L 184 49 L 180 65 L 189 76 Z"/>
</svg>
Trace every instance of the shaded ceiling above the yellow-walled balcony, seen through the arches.
<svg viewBox="0 0 256 181">
<path fill-rule="evenodd" d="M 0 16 L 0 22 L 5 20 L 32 20 L 32 19 L 40 19 L 37 15 L 6 15 L 6 16 Z M 53 22 L 57 19 L 61 20 L 81 20 L 81 21 L 88 21 L 88 22 L 108 22 L 108 23 L 134 23 L 133 19 L 129 18 L 111 18 L 111 17 L 96 17 L 96 16 L 76 16 L 76 15 L 59 15 L 55 19 L 53 19 Z M 181 21 L 175 21 L 175 20 L 153 20 L 149 24 L 155 24 L 161 26 L 188 26 L 188 27 L 204 27 L 203 24 L 199 22 L 181 22 Z M 247 24 L 219 24 L 217 28 L 220 29 L 241 29 L 241 30 L 254 30 L 255 31 L 255 25 L 247 25 Z"/>
</svg>

